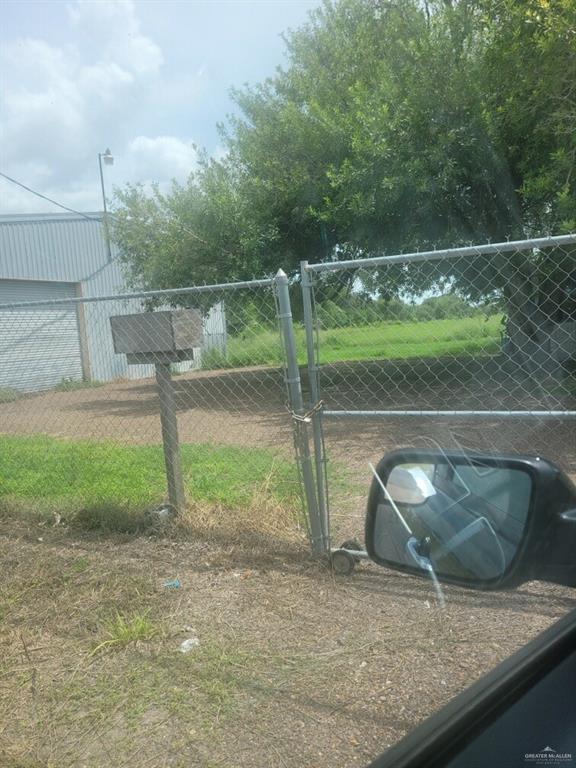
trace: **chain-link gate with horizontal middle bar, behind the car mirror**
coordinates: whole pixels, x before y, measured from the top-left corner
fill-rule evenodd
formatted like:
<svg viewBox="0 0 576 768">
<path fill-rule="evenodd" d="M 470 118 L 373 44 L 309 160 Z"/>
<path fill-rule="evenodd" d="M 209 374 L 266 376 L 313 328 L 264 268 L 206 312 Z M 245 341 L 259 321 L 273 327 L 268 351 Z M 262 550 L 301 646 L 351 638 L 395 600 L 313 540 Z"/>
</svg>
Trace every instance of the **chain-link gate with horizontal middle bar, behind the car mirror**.
<svg viewBox="0 0 576 768">
<path fill-rule="evenodd" d="M 576 236 L 304 262 L 302 287 L 333 544 L 362 536 L 368 463 L 393 448 L 541 454 L 576 475 Z"/>
</svg>

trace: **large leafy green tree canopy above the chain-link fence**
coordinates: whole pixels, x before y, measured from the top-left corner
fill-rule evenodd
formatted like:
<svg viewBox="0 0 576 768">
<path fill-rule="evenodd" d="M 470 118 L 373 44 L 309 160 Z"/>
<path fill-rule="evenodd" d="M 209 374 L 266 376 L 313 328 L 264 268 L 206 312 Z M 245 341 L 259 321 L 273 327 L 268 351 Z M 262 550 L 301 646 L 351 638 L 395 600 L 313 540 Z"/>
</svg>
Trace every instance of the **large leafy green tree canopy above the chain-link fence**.
<svg viewBox="0 0 576 768">
<path fill-rule="evenodd" d="M 165 195 L 117 190 L 135 283 L 576 229 L 576 0 L 326 0 L 286 45 L 233 93 L 222 160 Z M 478 298 L 498 270 L 456 278 Z"/>
</svg>

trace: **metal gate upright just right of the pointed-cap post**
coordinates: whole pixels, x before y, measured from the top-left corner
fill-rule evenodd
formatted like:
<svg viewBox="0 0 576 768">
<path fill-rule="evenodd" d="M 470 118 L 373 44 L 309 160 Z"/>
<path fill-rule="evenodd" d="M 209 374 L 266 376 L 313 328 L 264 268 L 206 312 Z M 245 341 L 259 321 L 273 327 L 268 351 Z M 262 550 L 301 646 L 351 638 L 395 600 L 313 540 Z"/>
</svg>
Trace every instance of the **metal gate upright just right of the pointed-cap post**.
<svg viewBox="0 0 576 768">
<path fill-rule="evenodd" d="M 322 439 L 322 414 L 316 410 L 320 402 L 318 367 L 314 348 L 314 312 L 312 308 L 312 281 L 308 273 L 308 262 L 300 262 L 302 281 L 302 303 L 304 309 L 304 328 L 306 331 L 306 355 L 308 360 L 308 381 L 312 400 L 312 434 L 314 438 L 314 462 L 316 467 L 316 486 L 318 492 L 318 511 L 322 526 L 323 547 L 330 548 L 330 520 L 328 517 L 327 477 L 324 460 L 324 441 Z"/>
</svg>

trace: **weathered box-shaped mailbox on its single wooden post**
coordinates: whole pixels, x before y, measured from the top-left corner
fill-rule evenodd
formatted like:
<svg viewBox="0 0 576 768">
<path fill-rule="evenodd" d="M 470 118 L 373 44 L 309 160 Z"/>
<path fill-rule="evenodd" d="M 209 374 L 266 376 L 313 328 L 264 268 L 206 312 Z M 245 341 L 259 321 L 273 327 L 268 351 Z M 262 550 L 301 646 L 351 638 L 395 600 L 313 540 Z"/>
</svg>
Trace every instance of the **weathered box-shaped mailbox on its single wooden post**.
<svg viewBox="0 0 576 768">
<path fill-rule="evenodd" d="M 202 345 L 202 317 L 195 309 L 142 312 L 111 317 L 110 325 L 116 353 L 125 354 L 129 364 L 155 366 L 168 498 L 180 512 L 186 499 L 170 364 L 193 359 L 194 347 Z"/>
</svg>

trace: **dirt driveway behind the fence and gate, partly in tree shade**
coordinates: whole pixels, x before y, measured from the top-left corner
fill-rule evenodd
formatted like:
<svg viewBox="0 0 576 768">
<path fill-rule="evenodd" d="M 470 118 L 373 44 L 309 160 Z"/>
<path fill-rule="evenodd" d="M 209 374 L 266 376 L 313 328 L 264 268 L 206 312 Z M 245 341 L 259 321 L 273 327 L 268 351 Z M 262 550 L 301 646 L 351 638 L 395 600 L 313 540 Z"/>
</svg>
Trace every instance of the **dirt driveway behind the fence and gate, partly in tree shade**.
<svg viewBox="0 0 576 768">
<path fill-rule="evenodd" d="M 302 370 L 306 391 L 306 371 Z M 215 442 L 292 451 L 282 371 L 244 368 L 194 371 L 175 377 L 182 442 Z M 574 382 L 572 382 L 573 385 Z M 322 369 L 324 407 L 332 410 L 576 409 L 566 384 L 513 377 L 491 360 L 343 363 Z M 373 460 L 384 449 L 437 441 L 449 447 L 541 452 L 576 472 L 573 419 L 376 418 L 325 419 L 335 457 Z M 119 381 L 76 391 L 51 391 L 0 404 L 0 432 L 45 433 L 122 443 L 161 440 L 154 380 Z M 330 458 L 330 456 L 329 456 Z"/>
</svg>

